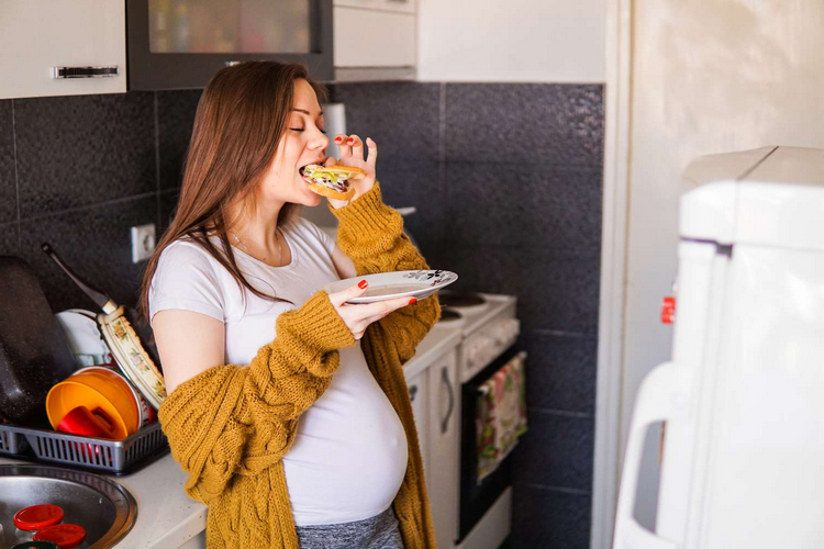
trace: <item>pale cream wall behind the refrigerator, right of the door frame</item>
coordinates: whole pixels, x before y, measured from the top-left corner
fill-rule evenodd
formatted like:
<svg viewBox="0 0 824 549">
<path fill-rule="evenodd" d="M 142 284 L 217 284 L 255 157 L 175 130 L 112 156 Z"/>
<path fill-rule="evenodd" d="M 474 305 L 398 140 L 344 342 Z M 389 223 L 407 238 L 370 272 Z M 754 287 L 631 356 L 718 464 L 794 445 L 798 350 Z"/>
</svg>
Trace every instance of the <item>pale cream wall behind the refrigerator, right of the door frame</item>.
<svg viewBox="0 0 824 549">
<path fill-rule="evenodd" d="M 638 384 L 670 356 L 658 315 L 686 165 L 765 145 L 824 148 L 824 2 L 635 0 L 633 11 L 621 458 Z"/>
</svg>

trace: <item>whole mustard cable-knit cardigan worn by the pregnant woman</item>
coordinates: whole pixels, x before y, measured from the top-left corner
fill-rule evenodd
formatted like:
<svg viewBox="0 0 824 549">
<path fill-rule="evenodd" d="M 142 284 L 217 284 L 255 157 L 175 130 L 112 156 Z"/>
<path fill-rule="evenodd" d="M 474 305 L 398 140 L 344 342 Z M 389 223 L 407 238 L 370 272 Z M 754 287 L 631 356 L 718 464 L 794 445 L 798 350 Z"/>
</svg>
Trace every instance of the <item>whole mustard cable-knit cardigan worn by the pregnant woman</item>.
<svg viewBox="0 0 824 549">
<path fill-rule="evenodd" d="M 337 244 L 358 274 L 427 268 L 377 183 L 333 212 Z M 438 315 L 435 296 L 421 300 L 371 324 L 361 341 L 407 433 L 407 473 L 392 504 L 407 549 L 434 548 L 435 535 L 402 363 Z M 188 473 L 186 493 L 209 506 L 209 548 L 299 548 L 281 458 L 300 415 L 329 388 L 337 349 L 355 340 L 325 292 L 276 325 L 277 337 L 252 363 L 204 371 L 180 384 L 158 413 L 171 455 Z"/>
</svg>

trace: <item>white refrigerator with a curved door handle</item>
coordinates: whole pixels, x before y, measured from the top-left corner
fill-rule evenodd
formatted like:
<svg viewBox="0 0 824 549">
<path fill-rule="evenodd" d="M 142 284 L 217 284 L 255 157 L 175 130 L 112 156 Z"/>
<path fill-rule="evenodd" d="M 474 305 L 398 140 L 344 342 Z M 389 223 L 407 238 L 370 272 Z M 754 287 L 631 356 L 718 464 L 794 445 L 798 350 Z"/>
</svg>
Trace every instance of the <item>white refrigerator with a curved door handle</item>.
<svg viewBox="0 0 824 549">
<path fill-rule="evenodd" d="M 693 161 L 672 359 L 644 380 L 614 549 L 824 548 L 824 150 Z M 665 422 L 656 531 L 633 518 Z"/>
</svg>

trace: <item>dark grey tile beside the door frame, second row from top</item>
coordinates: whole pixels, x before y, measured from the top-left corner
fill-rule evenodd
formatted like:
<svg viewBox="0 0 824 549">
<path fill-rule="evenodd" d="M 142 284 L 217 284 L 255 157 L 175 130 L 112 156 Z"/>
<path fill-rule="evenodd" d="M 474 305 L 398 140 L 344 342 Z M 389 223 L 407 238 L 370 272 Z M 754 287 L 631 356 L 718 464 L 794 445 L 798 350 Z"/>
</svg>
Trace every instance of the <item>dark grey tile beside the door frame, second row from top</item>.
<svg viewBox="0 0 824 549">
<path fill-rule="evenodd" d="M 599 250 L 601 170 L 447 163 L 447 234 L 470 246 Z"/>
</svg>

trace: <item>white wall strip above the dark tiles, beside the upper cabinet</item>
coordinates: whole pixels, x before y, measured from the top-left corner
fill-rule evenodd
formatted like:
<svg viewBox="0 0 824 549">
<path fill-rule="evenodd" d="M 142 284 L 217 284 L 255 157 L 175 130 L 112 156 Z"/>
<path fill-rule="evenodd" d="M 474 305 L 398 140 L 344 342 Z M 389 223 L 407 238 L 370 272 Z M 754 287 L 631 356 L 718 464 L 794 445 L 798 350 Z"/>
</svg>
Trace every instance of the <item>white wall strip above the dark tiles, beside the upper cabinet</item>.
<svg viewBox="0 0 824 549">
<path fill-rule="evenodd" d="M 606 0 L 417 1 L 417 80 L 604 81 Z"/>
</svg>

